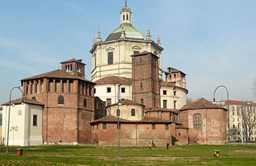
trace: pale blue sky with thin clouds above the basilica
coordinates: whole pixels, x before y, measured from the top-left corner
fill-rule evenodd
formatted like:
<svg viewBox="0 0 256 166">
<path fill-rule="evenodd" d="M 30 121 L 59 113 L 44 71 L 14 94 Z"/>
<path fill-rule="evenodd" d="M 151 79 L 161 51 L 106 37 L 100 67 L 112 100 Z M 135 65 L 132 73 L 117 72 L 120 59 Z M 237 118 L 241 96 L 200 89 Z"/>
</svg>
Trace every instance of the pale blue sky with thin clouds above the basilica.
<svg viewBox="0 0 256 166">
<path fill-rule="evenodd" d="M 81 58 L 90 79 L 89 50 L 119 26 L 123 0 L 0 1 L 0 103 L 20 79 L 60 68 Z M 133 25 L 152 39 L 161 36 L 162 68 L 187 74 L 188 97 L 212 100 L 219 85 L 232 100 L 256 100 L 256 1 L 129 0 Z M 14 92 L 14 98 L 19 93 Z M 218 100 L 226 99 L 218 90 Z"/>
</svg>

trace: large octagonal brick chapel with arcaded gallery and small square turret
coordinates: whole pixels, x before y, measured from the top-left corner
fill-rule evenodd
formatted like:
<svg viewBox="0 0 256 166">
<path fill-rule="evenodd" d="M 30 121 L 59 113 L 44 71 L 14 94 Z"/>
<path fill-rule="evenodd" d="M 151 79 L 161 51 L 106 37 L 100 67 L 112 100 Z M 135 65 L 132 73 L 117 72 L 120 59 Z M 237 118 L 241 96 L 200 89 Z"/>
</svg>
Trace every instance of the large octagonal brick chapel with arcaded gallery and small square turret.
<svg viewBox="0 0 256 166">
<path fill-rule="evenodd" d="M 73 66 L 77 66 L 75 62 L 71 61 Z M 84 63 L 77 63 L 84 69 Z M 63 67 L 65 64 L 69 62 L 63 62 Z M 69 73 L 65 68 L 22 80 L 25 96 L 44 104 L 44 143 L 92 142 L 89 122 L 105 112 L 105 103 L 93 97 L 94 84 L 84 79 L 84 72 Z M 63 97 L 63 103 L 59 103 L 59 97 Z"/>
</svg>

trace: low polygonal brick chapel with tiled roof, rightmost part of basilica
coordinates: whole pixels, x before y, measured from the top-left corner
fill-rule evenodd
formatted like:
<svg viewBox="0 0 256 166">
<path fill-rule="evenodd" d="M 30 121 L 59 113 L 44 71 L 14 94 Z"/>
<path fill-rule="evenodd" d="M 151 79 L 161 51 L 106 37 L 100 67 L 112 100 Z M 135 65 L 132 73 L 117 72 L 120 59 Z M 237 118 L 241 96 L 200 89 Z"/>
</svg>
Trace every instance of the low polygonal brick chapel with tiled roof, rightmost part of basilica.
<svg viewBox="0 0 256 166">
<path fill-rule="evenodd" d="M 226 109 L 199 99 L 181 108 L 179 118 L 188 128 L 188 143 L 224 144 L 227 138 Z"/>
</svg>

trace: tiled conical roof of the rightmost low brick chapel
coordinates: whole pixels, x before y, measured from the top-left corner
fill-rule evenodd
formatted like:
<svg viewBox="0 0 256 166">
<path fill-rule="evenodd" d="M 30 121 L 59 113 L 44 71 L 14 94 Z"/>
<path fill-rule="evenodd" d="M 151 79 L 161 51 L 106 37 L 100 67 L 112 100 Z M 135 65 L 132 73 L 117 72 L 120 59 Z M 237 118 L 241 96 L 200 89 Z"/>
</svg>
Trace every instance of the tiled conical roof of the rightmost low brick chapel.
<svg viewBox="0 0 256 166">
<path fill-rule="evenodd" d="M 202 109 L 202 108 L 222 108 L 222 109 L 225 109 L 223 107 L 220 107 L 217 104 L 212 104 L 211 101 L 208 101 L 204 98 L 201 98 L 201 99 L 196 100 L 195 102 L 193 102 L 191 104 L 184 105 L 180 110 Z"/>
</svg>

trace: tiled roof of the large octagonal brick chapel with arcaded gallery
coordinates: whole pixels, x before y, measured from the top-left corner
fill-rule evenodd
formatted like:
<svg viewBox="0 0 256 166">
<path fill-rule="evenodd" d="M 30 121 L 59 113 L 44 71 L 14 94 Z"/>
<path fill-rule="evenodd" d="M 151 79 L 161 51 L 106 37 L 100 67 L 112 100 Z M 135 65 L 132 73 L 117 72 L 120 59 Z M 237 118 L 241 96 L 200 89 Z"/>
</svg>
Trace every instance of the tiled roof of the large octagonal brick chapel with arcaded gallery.
<svg viewBox="0 0 256 166">
<path fill-rule="evenodd" d="M 69 79 L 79 79 L 79 80 L 84 80 L 86 82 L 91 82 L 90 80 L 84 79 L 80 76 L 70 74 L 70 73 L 62 71 L 60 69 L 49 71 L 47 73 L 43 73 L 43 74 L 39 74 L 39 75 L 35 75 L 35 76 L 31 76 L 28 78 L 24 78 L 22 80 L 39 79 L 39 78 L 69 78 Z M 91 82 L 91 83 L 93 83 L 93 82 Z"/>
</svg>

